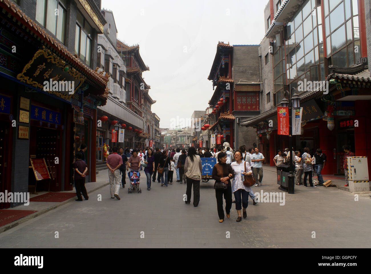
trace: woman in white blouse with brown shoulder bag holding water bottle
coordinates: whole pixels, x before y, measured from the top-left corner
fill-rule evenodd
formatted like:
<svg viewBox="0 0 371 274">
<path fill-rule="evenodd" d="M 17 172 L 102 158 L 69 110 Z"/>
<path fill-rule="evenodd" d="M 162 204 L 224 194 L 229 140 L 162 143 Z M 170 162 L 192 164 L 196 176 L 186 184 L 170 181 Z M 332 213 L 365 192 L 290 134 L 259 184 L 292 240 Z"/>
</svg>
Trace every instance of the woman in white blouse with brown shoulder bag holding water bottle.
<svg viewBox="0 0 371 274">
<path fill-rule="evenodd" d="M 234 178 L 232 182 L 232 192 L 234 194 L 234 199 L 236 199 L 236 210 L 238 218 L 236 222 L 241 222 L 241 208 L 243 208 L 243 218 L 247 217 L 246 208 L 248 205 L 247 198 L 249 198 L 249 192 L 251 191 L 250 187 L 244 186 L 242 182 L 243 175 L 252 175 L 250 163 L 242 160 L 242 154 L 239 150 L 234 152 L 234 159 L 236 162 L 231 164 L 232 169 L 234 170 Z M 246 172 L 245 172 L 245 163 L 246 163 Z M 242 205 L 241 205 L 242 203 Z"/>
</svg>

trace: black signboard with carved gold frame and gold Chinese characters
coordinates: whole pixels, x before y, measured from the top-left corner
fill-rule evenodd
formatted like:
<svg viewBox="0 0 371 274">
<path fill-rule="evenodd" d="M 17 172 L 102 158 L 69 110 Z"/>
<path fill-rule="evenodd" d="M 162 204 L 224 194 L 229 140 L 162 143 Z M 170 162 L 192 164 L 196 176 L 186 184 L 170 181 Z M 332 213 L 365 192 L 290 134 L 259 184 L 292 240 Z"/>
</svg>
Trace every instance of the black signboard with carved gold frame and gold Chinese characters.
<svg viewBox="0 0 371 274">
<path fill-rule="evenodd" d="M 78 91 L 86 77 L 43 46 L 24 66 L 17 79 L 70 101 L 73 93 Z M 47 88 L 45 82 L 48 83 Z M 69 90 L 71 87 L 73 91 Z"/>
</svg>

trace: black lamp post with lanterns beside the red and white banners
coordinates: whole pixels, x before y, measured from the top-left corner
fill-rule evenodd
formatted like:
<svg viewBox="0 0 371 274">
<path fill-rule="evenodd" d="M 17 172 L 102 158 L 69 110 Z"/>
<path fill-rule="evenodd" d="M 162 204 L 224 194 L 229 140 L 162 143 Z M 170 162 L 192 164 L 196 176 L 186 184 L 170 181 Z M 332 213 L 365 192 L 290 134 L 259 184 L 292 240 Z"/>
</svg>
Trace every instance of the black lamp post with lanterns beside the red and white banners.
<svg viewBox="0 0 371 274">
<path fill-rule="evenodd" d="M 292 90 L 294 90 L 294 94 L 292 94 Z M 286 98 L 286 92 L 288 93 L 289 99 Z M 289 184 L 288 184 L 288 193 L 294 194 L 294 174 L 293 174 L 293 162 L 292 159 L 295 155 L 292 154 L 292 108 L 300 108 L 300 96 L 296 93 L 295 88 L 291 88 L 291 92 L 285 91 L 285 97 L 283 97 L 281 101 L 282 107 L 289 108 L 289 151 L 290 151 L 290 173 L 289 173 Z"/>
</svg>

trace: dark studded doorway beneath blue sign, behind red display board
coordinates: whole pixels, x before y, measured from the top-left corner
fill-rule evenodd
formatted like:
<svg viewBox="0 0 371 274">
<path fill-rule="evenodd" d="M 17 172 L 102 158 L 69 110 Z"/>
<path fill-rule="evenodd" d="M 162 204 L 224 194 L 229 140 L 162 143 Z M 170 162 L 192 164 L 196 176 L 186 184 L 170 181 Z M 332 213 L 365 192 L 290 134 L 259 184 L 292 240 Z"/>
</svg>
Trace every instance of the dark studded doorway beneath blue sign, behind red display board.
<svg viewBox="0 0 371 274">
<path fill-rule="evenodd" d="M 39 191 L 61 191 L 61 173 L 63 166 L 61 151 L 60 130 L 31 126 L 30 130 L 30 156 L 29 158 L 45 159 L 50 180 L 41 180 L 36 183 L 32 167 L 29 170 L 29 185 L 37 186 Z M 58 159 L 56 159 L 58 157 Z M 57 163 L 58 162 L 58 163 Z M 29 164 L 31 166 L 31 163 Z"/>
</svg>

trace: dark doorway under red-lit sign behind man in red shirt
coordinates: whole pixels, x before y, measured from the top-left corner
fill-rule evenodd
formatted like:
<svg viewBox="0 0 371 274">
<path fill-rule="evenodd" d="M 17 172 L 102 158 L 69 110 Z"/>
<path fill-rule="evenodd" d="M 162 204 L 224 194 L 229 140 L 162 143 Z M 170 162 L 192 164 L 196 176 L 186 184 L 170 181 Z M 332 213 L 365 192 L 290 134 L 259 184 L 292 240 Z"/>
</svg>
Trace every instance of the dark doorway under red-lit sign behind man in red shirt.
<svg viewBox="0 0 371 274">
<path fill-rule="evenodd" d="M 354 141 L 354 128 L 344 130 L 342 132 L 336 133 L 336 170 L 337 174 L 335 175 L 344 175 L 344 150 L 343 146 L 347 144 L 350 146 L 352 152 L 355 151 L 355 141 Z"/>
</svg>

